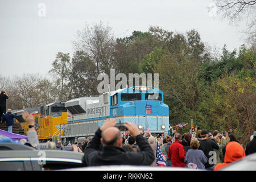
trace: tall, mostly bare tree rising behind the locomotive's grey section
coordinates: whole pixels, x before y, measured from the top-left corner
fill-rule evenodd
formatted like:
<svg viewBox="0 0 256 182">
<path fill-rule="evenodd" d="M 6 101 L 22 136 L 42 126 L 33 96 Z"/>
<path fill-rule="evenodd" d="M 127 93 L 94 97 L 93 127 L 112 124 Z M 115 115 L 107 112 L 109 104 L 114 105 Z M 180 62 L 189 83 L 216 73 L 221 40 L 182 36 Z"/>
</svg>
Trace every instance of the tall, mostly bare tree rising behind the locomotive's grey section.
<svg viewBox="0 0 256 182">
<path fill-rule="evenodd" d="M 84 94 L 98 94 L 98 75 L 106 73 L 110 76 L 110 68 L 114 67 L 115 40 L 112 28 L 104 26 L 102 22 L 92 27 L 86 24 L 83 30 L 77 32 L 73 47 L 76 53 L 72 60 L 72 75 L 77 79 L 76 85 L 80 85 L 77 90 L 82 89 Z"/>
</svg>

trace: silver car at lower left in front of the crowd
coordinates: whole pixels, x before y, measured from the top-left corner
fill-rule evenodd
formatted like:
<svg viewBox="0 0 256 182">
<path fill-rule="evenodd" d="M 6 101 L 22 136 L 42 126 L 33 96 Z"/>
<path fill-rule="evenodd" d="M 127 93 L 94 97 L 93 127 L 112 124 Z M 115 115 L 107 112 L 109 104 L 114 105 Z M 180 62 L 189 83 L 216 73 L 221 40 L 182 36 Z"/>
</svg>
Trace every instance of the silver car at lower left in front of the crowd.
<svg viewBox="0 0 256 182">
<path fill-rule="evenodd" d="M 0 171 L 41 171 L 83 167 L 84 153 L 61 150 L 2 150 Z"/>
</svg>

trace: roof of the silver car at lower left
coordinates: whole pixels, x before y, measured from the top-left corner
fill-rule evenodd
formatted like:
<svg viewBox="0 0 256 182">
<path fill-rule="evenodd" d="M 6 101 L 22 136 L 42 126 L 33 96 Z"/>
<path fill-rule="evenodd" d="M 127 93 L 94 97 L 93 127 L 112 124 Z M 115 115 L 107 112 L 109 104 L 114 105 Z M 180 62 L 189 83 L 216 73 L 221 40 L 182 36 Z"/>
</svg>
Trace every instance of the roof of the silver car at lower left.
<svg viewBox="0 0 256 182">
<path fill-rule="evenodd" d="M 84 153 L 73 151 L 61 151 L 61 150 L 15 150 L 15 151 L 0 151 L 1 158 L 40 158 L 42 151 L 45 152 L 46 158 L 65 158 L 65 159 L 77 159 L 82 160 Z"/>
</svg>

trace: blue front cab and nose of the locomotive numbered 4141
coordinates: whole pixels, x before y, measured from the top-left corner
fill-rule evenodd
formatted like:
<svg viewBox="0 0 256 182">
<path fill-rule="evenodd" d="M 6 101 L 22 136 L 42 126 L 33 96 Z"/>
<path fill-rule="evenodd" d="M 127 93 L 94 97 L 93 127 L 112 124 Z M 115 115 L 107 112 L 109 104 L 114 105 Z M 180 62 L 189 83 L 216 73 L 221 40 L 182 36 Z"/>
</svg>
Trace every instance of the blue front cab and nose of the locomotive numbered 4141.
<svg viewBox="0 0 256 182">
<path fill-rule="evenodd" d="M 163 92 L 153 87 L 132 87 L 110 94 L 110 118 L 135 123 L 140 130 L 164 133 L 169 129 L 169 107 Z"/>
</svg>

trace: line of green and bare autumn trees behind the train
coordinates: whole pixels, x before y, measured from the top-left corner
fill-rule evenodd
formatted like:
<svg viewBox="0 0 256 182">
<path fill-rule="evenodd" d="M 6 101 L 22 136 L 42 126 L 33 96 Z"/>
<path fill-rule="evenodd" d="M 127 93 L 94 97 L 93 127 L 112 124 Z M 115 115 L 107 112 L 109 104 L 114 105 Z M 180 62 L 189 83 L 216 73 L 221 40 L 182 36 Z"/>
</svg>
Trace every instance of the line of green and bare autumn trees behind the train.
<svg viewBox="0 0 256 182">
<path fill-rule="evenodd" d="M 58 52 L 48 77 L 1 77 L 10 99 L 7 107 L 48 104 L 98 95 L 100 73 L 159 73 L 159 88 L 170 107 L 170 125 L 199 124 L 201 129 L 226 131 L 246 144 L 255 125 L 255 45 L 216 54 L 197 31 L 181 34 L 150 27 L 114 38 L 103 23 L 77 32 L 75 52 Z M 184 127 L 181 133 L 187 132 Z"/>
</svg>

